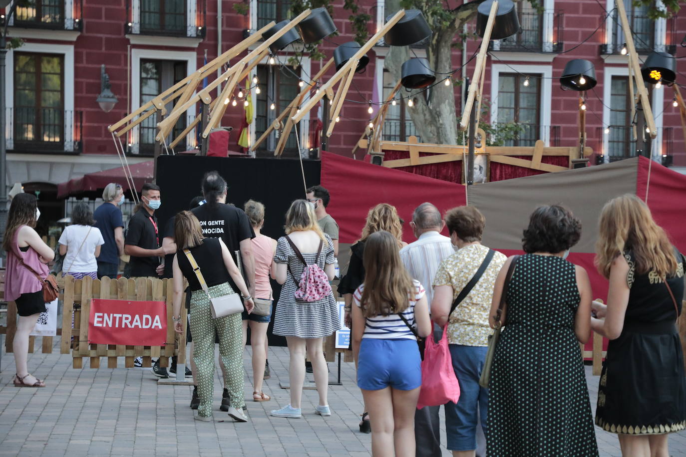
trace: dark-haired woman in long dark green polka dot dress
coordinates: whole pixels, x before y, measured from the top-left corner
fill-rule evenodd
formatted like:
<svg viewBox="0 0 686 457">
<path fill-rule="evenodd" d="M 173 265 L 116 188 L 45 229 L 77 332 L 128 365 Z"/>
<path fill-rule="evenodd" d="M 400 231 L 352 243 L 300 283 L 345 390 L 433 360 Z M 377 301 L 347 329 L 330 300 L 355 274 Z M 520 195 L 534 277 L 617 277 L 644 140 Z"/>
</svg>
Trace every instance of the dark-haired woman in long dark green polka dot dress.
<svg viewBox="0 0 686 457">
<path fill-rule="evenodd" d="M 591 334 L 591 284 L 565 260 L 580 234 L 561 206 L 536 209 L 524 230 L 490 373 L 488 457 L 598 456 L 579 347 Z M 495 282 L 491 327 L 510 262 Z"/>
</svg>

